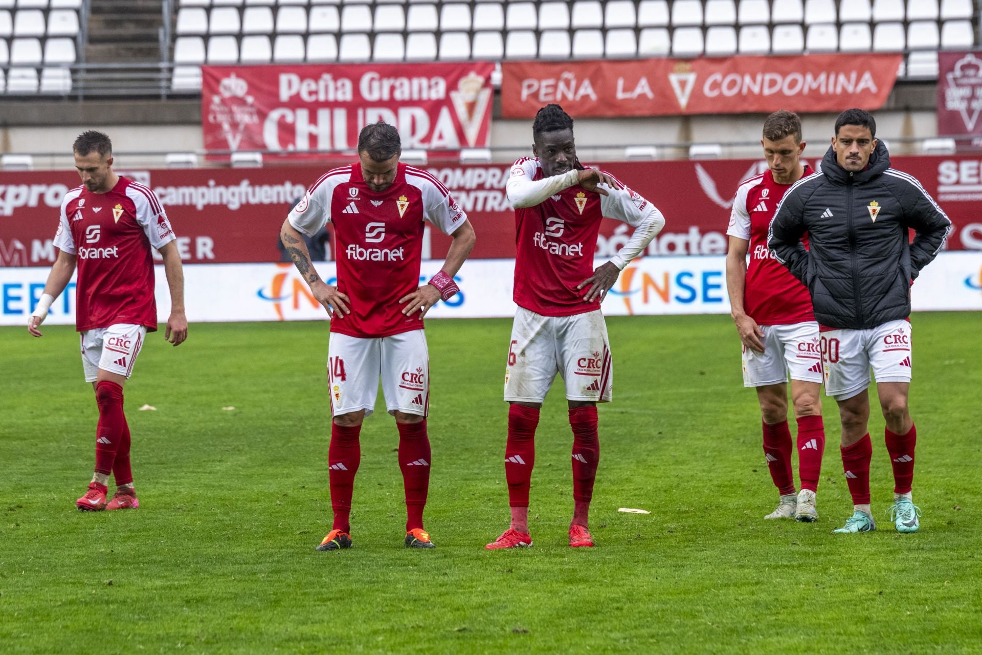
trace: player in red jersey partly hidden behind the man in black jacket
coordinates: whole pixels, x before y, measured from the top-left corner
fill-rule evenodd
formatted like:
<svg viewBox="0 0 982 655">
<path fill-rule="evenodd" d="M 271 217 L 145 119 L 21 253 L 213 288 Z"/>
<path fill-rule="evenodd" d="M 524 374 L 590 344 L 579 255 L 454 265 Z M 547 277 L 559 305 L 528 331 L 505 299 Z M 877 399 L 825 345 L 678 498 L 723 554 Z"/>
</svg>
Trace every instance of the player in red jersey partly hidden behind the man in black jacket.
<svg viewBox="0 0 982 655">
<path fill-rule="evenodd" d="M 797 114 L 782 110 L 768 116 L 760 143 L 768 170 L 741 182 L 736 190 L 727 230 L 727 287 L 742 343 L 743 386 L 757 390 L 764 457 L 778 487 L 778 507 L 764 518 L 811 522 L 818 519 L 815 492 L 825 452 L 818 323 L 808 290 L 767 248 L 767 230 L 785 191 L 812 171 L 799 159 L 805 143 Z M 789 376 L 801 477 L 797 493 L 791 471 Z"/>
</svg>

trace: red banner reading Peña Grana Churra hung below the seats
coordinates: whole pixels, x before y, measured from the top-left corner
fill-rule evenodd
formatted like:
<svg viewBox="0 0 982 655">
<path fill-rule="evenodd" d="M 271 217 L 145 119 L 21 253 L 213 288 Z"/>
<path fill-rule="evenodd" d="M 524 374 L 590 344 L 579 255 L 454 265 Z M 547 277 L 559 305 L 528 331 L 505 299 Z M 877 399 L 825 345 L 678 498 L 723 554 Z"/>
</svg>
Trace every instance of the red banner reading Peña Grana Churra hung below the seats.
<svg viewBox="0 0 982 655">
<path fill-rule="evenodd" d="M 382 120 L 404 149 L 486 147 L 491 62 L 201 67 L 208 150 L 354 150 Z"/>
</svg>

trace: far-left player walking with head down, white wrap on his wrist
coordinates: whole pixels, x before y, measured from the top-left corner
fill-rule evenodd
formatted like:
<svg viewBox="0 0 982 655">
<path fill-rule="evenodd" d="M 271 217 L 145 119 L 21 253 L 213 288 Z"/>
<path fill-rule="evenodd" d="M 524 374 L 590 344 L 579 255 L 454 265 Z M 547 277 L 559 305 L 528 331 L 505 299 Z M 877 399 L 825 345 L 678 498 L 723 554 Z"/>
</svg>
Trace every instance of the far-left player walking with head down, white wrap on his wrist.
<svg viewBox="0 0 982 655">
<path fill-rule="evenodd" d="M 109 136 L 84 132 L 76 139 L 75 167 L 82 186 L 65 194 L 54 245 L 58 259 L 27 331 L 38 330 L 51 303 L 65 290 L 78 265 L 76 328 L 81 333 L 85 382 L 95 389 L 95 473 L 78 501 L 80 510 L 139 507 L 130 466 L 130 426 L 123 411 L 123 385 L 133 373 L 147 332 L 157 330 L 151 247 L 160 250 L 171 294 L 164 338 L 174 346 L 188 338 L 184 272 L 174 231 L 157 196 L 113 173 Z M 109 473 L 116 493 L 106 502 Z"/>
</svg>

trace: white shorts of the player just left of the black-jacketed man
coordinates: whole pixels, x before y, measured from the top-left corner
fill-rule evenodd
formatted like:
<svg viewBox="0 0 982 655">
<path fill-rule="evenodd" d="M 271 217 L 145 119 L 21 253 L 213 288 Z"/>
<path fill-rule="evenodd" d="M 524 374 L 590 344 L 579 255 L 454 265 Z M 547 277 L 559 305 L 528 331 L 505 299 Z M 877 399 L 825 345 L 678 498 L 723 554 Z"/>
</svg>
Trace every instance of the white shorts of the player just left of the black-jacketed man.
<svg viewBox="0 0 982 655">
<path fill-rule="evenodd" d="M 792 380 L 822 383 L 818 323 L 761 325 L 763 353 L 743 347 L 743 386 L 764 387 Z"/>
</svg>

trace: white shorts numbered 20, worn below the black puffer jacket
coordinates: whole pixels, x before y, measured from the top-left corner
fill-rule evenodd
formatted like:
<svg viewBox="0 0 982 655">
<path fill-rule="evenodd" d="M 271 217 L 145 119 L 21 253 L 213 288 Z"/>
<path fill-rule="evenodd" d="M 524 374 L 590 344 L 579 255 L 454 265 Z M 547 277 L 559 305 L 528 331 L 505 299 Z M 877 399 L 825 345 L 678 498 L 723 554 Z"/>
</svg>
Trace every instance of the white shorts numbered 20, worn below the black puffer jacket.
<svg viewBox="0 0 982 655">
<path fill-rule="evenodd" d="M 825 393 L 837 401 L 852 398 L 869 387 L 870 367 L 877 382 L 910 382 L 912 337 L 910 323 L 887 321 L 868 330 L 822 333 Z"/>
</svg>

